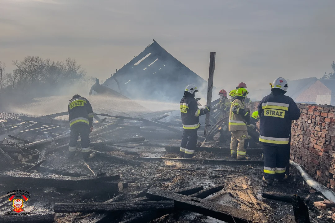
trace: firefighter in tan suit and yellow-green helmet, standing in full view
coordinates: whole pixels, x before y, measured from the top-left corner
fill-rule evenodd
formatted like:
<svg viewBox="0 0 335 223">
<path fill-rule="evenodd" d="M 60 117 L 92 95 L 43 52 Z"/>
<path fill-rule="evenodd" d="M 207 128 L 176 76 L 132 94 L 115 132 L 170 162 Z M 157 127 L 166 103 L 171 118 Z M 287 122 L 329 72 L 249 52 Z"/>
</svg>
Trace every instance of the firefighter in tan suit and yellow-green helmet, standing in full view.
<svg viewBox="0 0 335 223">
<path fill-rule="evenodd" d="M 239 88 L 236 91 L 234 101 L 230 106 L 229 112 L 229 132 L 231 132 L 230 141 L 230 155 L 234 157 L 237 154 L 237 159 L 249 158 L 246 156 L 246 149 L 244 148 L 245 139 L 248 138 L 248 131 L 246 123 L 249 122 L 250 113 L 244 108 L 244 100 L 248 95 L 245 88 Z M 235 149 L 238 144 L 237 151 Z"/>
</svg>

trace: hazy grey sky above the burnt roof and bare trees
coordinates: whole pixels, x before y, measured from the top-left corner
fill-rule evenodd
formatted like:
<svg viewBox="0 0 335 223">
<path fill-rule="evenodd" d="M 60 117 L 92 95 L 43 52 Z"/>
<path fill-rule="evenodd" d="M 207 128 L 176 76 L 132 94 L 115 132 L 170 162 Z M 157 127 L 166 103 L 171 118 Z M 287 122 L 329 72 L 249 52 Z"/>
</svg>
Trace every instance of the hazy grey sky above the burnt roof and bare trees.
<svg viewBox="0 0 335 223">
<path fill-rule="evenodd" d="M 331 71 L 334 12 L 334 0 L 0 0 L 0 61 L 71 57 L 106 80 L 155 39 L 204 79 L 216 52 L 218 88 L 267 88 Z"/>
</svg>

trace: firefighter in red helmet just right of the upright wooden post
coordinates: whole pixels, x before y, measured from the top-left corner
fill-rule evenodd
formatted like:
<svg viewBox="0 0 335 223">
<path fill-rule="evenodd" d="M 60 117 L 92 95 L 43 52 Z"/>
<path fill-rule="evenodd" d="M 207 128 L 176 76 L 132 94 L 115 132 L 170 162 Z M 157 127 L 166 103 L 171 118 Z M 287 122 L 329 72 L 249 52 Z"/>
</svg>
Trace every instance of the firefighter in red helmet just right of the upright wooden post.
<svg viewBox="0 0 335 223">
<path fill-rule="evenodd" d="M 222 89 L 219 92 L 219 96 L 220 96 L 219 103 L 217 103 L 216 105 L 212 107 L 212 110 L 215 110 L 215 109 L 218 110 L 217 114 L 215 115 L 216 122 L 220 121 L 222 118 L 227 116 L 229 109 L 230 109 L 230 105 L 231 105 L 231 102 L 227 98 L 227 92 L 224 89 Z M 223 122 L 222 125 L 218 129 L 218 133 L 214 135 L 214 140 L 224 142 L 225 141 L 224 132 L 226 130 L 227 130 L 227 126 Z"/>
</svg>

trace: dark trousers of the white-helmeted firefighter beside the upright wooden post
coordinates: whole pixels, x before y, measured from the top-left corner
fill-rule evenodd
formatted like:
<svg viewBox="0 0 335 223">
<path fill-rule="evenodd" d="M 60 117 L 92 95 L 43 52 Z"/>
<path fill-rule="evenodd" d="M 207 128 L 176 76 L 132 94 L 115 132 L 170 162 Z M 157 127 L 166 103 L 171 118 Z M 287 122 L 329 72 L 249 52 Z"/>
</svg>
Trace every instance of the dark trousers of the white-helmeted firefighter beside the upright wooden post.
<svg viewBox="0 0 335 223">
<path fill-rule="evenodd" d="M 185 158 L 192 158 L 198 141 L 198 129 L 184 129 L 180 155 Z"/>
</svg>

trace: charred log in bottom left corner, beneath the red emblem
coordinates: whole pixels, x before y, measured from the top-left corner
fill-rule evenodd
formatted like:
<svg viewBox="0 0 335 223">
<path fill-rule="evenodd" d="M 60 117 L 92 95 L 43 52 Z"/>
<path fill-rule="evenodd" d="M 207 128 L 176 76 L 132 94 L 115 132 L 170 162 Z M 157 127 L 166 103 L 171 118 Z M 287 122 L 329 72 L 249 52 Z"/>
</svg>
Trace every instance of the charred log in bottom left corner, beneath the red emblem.
<svg viewBox="0 0 335 223">
<path fill-rule="evenodd" d="M 0 215 L 0 222 L 6 223 L 49 223 L 55 222 L 56 213 L 32 213 L 27 215 Z"/>
</svg>

